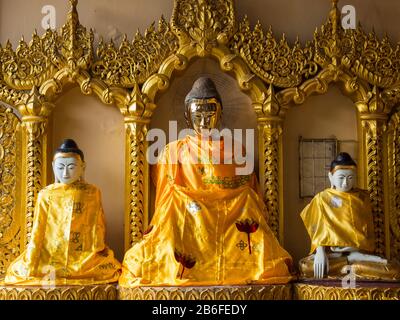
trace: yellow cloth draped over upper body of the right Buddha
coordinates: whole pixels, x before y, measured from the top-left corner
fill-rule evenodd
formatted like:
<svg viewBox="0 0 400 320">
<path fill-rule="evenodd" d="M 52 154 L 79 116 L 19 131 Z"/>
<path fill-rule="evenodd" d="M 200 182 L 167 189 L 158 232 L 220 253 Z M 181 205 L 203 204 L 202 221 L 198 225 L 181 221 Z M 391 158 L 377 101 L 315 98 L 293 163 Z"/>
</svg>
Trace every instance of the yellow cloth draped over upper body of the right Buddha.
<svg viewBox="0 0 400 320">
<path fill-rule="evenodd" d="M 301 213 L 311 238 L 311 251 L 318 246 L 353 247 L 373 252 L 374 225 L 369 196 L 365 191 L 337 191 L 317 194 Z"/>
</svg>

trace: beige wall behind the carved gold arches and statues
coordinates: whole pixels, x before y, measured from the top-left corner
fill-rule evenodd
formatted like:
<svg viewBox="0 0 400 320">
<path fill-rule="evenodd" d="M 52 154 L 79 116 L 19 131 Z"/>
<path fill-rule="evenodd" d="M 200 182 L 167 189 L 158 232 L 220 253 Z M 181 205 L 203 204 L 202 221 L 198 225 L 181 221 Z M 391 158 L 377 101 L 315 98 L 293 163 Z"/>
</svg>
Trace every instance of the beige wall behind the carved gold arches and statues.
<svg viewBox="0 0 400 320">
<path fill-rule="evenodd" d="M 14 47 L 21 35 L 31 39 L 36 28 L 39 34 L 43 5 L 54 5 L 57 13 L 57 27 L 61 27 L 69 10 L 66 0 L 0 0 L 0 42 L 4 45 L 10 39 Z M 394 41 L 400 40 L 398 0 L 345 0 L 340 6 L 353 4 L 357 18 L 366 30 L 372 26 L 379 35 L 384 31 Z M 241 18 L 249 16 L 252 24 L 260 20 L 267 28 L 273 26 L 278 36 L 287 34 L 290 41 L 296 35 L 301 41 L 311 40 L 315 27 L 324 23 L 330 8 L 329 0 L 237 0 L 237 13 Z M 152 21 L 164 14 L 171 17 L 173 0 L 80 0 L 81 23 L 93 28 L 98 35 L 107 40 L 121 38 L 127 33 L 132 38 L 137 29 L 144 31 Z M 210 74 L 217 82 L 226 99 L 227 122 L 237 116 L 237 125 L 243 118 L 254 123 L 249 99 L 240 93 L 235 81 L 219 71 L 217 63 L 211 60 L 198 60 L 184 73 L 177 74 L 170 90 L 158 99 L 153 127 L 164 125 L 164 119 L 181 119 L 181 107 L 185 93 L 197 73 Z M 229 109 L 231 105 L 232 109 Z M 241 107 L 243 109 L 241 109 Z M 231 110 L 231 112 L 227 112 Z M 229 120 L 228 120 L 229 119 Z M 85 97 L 78 89 L 68 91 L 57 102 L 54 114 L 54 146 L 62 138 L 75 138 L 86 153 L 88 169 L 87 180 L 98 185 L 103 194 L 106 211 L 108 242 L 119 258 L 123 255 L 123 119 L 119 111 L 102 105 L 97 98 Z M 236 126 L 236 124 L 235 124 Z M 351 102 L 341 96 L 339 90 L 332 88 L 328 94 L 310 98 L 304 106 L 295 107 L 288 112 L 285 120 L 285 246 L 296 259 L 306 254 L 308 238 L 299 219 L 299 212 L 305 202 L 298 197 L 298 136 L 357 139 L 355 111 Z M 293 160 L 294 159 L 294 160 Z"/>
</svg>

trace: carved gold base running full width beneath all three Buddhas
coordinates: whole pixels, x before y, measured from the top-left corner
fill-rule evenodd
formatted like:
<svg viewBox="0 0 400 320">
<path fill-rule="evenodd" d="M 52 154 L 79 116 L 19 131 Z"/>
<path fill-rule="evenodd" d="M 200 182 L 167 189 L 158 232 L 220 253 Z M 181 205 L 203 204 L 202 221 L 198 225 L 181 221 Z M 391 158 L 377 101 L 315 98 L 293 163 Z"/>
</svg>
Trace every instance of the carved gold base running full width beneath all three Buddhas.
<svg viewBox="0 0 400 320">
<path fill-rule="evenodd" d="M 0 286 L 0 300 L 400 300 L 399 283 L 363 283 L 343 288 L 338 282 L 269 286 L 137 287 L 116 285 L 55 288 Z"/>
</svg>

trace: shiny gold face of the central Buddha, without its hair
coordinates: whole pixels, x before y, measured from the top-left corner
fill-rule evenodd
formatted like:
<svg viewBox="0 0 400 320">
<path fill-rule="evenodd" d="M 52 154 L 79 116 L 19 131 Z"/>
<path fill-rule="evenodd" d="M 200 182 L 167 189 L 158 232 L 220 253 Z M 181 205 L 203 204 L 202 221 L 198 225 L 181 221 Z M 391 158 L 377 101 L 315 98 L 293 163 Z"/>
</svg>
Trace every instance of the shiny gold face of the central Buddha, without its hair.
<svg viewBox="0 0 400 320">
<path fill-rule="evenodd" d="M 216 103 L 199 104 L 193 102 L 189 107 L 190 122 L 197 134 L 218 127 L 221 118 L 220 106 Z"/>
</svg>

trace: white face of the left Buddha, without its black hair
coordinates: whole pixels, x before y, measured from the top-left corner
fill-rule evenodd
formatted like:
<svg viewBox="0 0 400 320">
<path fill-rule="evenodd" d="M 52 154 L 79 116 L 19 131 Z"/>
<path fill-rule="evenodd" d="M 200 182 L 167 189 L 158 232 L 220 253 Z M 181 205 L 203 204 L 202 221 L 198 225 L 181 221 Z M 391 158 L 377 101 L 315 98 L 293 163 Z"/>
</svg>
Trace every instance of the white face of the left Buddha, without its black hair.
<svg viewBox="0 0 400 320">
<path fill-rule="evenodd" d="M 71 184 L 83 176 L 85 165 L 77 157 L 58 157 L 53 161 L 56 182 Z"/>
</svg>

